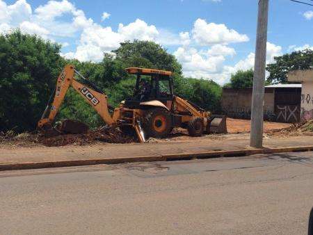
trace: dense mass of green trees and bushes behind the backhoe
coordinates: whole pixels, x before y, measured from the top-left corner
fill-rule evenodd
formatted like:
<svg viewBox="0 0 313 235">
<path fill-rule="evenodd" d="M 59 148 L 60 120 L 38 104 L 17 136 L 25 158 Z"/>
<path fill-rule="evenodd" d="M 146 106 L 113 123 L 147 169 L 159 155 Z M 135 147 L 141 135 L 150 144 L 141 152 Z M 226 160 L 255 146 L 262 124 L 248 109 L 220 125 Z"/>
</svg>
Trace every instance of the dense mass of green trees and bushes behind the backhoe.
<svg viewBox="0 0 313 235">
<path fill-rule="evenodd" d="M 221 88 L 207 80 L 182 76 L 176 58 L 154 42 L 124 42 L 100 63 L 65 60 L 60 45 L 15 31 L 0 36 L 0 131 L 33 131 L 63 66 L 72 63 L 86 79 L 103 90 L 109 104 L 118 104 L 134 93 L 136 78 L 126 67 L 150 67 L 174 72 L 175 93 L 214 113 L 220 110 Z M 79 80 L 79 77 L 75 77 Z M 70 89 L 56 117 L 81 120 L 90 127 L 104 124 L 77 92 Z"/>
</svg>

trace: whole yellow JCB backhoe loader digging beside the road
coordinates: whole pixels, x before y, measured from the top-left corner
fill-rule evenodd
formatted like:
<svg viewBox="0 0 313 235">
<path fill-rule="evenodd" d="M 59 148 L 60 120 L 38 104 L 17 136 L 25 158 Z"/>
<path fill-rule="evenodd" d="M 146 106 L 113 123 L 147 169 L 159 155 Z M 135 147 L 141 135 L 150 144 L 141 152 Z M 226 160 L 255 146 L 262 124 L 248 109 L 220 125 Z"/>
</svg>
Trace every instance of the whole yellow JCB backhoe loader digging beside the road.
<svg viewBox="0 0 313 235">
<path fill-rule="evenodd" d="M 172 72 L 138 67 L 129 67 L 126 70 L 137 78 L 134 96 L 121 102 L 117 108 L 112 108 L 102 90 L 85 79 L 74 69 L 74 65 L 66 65 L 58 76 L 54 100 L 51 104 L 48 102 L 38 122 L 38 128 L 52 127 L 65 94 L 72 86 L 95 108 L 106 124 L 119 127 L 126 133 L 136 132 L 141 143 L 149 137 L 164 138 L 174 127 L 188 129 L 191 136 L 201 136 L 210 130 L 227 132 L 225 116 L 211 115 L 173 94 Z M 113 112 L 112 115 L 109 110 Z"/>
</svg>

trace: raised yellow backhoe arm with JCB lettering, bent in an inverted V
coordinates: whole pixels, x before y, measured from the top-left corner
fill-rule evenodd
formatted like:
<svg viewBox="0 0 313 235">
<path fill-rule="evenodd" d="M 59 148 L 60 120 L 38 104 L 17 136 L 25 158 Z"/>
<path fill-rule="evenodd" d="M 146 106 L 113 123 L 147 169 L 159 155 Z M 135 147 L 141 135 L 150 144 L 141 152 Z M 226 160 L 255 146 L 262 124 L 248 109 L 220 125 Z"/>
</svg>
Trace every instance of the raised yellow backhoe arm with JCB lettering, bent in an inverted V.
<svg viewBox="0 0 313 235">
<path fill-rule="evenodd" d="M 42 129 L 46 126 L 51 126 L 54 122 L 56 114 L 63 102 L 66 92 L 70 86 L 76 90 L 83 99 L 86 100 L 90 106 L 95 108 L 95 111 L 99 113 L 106 124 L 113 124 L 113 118 L 109 113 L 108 108 L 108 97 L 102 93 L 101 90 L 93 90 L 85 84 L 79 83 L 74 79 L 74 75 L 81 76 L 82 79 L 86 80 L 77 70 L 74 69 L 74 65 L 66 65 L 58 76 L 56 81 L 56 90 L 54 93 L 54 100 L 52 104 L 47 104 L 45 112 L 42 114 L 42 118 L 38 122 L 38 128 Z M 50 111 L 50 112 L 49 112 Z M 49 112 L 49 115 L 47 113 Z"/>
</svg>

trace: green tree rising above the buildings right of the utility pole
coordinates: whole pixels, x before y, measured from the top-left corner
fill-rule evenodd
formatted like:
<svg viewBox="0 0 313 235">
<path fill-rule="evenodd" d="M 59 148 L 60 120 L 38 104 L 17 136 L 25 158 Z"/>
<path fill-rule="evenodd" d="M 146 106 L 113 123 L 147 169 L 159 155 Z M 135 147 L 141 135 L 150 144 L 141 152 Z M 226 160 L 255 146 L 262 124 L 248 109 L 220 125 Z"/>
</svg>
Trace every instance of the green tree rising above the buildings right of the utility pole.
<svg viewBox="0 0 313 235">
<path fill-rule="evenodd" d="M 309 70 L 313 67 L 313 51 L 306 49 L 294 51 L 274 58 L 275 63 L 268 64 L 266 70 L 270 73 L 269 83 L 288 83 L 287 74 L 292 70 Z"/>
</svg>

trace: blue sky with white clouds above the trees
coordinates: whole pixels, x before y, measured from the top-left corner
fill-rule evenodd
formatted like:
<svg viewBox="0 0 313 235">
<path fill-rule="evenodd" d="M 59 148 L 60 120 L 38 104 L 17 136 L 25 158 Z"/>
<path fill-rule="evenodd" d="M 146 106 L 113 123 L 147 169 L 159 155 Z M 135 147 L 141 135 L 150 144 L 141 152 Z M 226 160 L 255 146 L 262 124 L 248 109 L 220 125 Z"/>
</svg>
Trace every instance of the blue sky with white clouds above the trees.
<svg viewBox="0 0 313 235">
<path fill-rule="evenodd" d="M 185 76 L 223 85 L 254 65 L 257 2 L 0 0 L 0 33 L 19 28 L 61 43 L 65 58 L 95 62 L 125 40 L 151 40 L 177 58 Z M 313 6 L 270 0 L 266 62 L 306 48 L 313 49 Z"/>
</svg>

